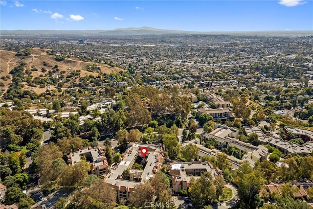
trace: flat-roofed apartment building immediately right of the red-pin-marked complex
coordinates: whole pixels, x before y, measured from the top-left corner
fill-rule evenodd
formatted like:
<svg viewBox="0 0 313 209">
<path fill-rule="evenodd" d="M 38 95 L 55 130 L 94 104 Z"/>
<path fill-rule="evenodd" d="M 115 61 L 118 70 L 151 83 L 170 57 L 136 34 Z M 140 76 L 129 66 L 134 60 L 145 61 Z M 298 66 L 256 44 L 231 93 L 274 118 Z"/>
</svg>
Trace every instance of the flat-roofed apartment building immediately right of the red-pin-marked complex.
<svg viewBox="0 0 313 209">
<path fill-rule="evenodd" d="M 202 171 L 211 172 L 213 178 L 222 175 L 219 168 L 208 162 L 171 163 L 169 173 L 172 175 L 173 191 L 178 193 L 181 189 L 188 191 L 191 178 L 199 178 Z"/>
</svg>

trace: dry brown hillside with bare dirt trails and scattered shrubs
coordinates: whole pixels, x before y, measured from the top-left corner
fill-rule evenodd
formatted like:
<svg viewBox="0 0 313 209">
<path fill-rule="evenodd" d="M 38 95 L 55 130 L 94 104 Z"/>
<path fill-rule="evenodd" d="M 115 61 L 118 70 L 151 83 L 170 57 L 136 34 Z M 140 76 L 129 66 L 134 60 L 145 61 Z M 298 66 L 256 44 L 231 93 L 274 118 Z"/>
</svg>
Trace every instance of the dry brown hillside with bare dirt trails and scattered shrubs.
<svg viewBox="0 0 313 209">
<path fill-rule="evenodd" d="M 32 48 L 31 55 L 29 56 L 19 56 L 16 57 L 16 52 L 12 51 L 0 51 L 0 81 L 4 84 L 4 87 L 1 87 L 2 93 L 4 93 L 12 82 L 12 75 L 9 72 L 18 65 L 20 61 L 26 63 L 26 70 L 31 70 L 36 68 L 37 71 L 31 70 L 30 73 L 32 75 L 32 79 L 35 77 L 41 76 L 45 78 L 48 70 L 52 70 L 52 68 L 57 65 L 59 72 L 64 71 L 63 75 L 67 76 L 72 71 L 81 70 L 80 75 L 75 76 L 75 79 L 72 79 L 70 83 L 77 83 L 79 77 L 85 77 L 88 75 L 97 76 L 97 72 L 89 72 L 84 70 L 87 65 L 92 65 L 94 63 L 83 62 L 76 58 L 65 59 L 64 61 L 58 62 L 54 59 L 54 56 L 47 55 L 46 51 L 49 49 L 46 48 Z M 100 67 L 102 73 L 115 73 L 122 71 L 123 69 L 118 67 L 110 67 L 109 65 L 99 65 L 96 64 L 97 67 Z M 46 72 L 42 72 L 41 69 L 45 68 Z M 45 92 L 45 88 L 38 87 L 30 87 L 26 83 L 24 89 L 32 90 L 36 93 Z M 67 83 L 68 84 L 68 83 Z M 51 90 L 55 89 L 55 86 L 51 86 Z"/>
</svg>

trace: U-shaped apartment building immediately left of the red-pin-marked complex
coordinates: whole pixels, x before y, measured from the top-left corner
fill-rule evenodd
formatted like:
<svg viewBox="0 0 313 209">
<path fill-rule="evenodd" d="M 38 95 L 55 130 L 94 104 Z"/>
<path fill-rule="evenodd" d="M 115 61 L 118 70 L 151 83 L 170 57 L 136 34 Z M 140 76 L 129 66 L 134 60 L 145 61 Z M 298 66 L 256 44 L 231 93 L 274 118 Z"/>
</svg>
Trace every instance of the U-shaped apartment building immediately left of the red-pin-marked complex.
<svg viewBox="0 0 313 209">
<path fill-rule="evenodd" d="M 89 162 L 91 174 L 102 176 L 108 170 L 109 164 L 107 158 L 100 147 L 79 149 L 77 152 L 70 153 L 67 161 L 69 164 L 74 165 L 81 162 L 83 156 L 86 158 L 86 161 Z"/>
</svg>

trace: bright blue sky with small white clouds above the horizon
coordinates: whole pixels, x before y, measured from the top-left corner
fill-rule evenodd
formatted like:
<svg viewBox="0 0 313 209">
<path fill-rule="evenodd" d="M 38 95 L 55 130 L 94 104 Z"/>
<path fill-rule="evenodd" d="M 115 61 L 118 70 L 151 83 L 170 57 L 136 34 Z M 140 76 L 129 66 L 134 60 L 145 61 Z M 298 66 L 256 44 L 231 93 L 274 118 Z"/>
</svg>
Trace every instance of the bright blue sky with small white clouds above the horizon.
<svg viewBox="0 0 313 209">
<path fill-rule="evenodd" d="M 1 30 L 313 30 L 313 0 L 0 0 Z"/>
</svg>

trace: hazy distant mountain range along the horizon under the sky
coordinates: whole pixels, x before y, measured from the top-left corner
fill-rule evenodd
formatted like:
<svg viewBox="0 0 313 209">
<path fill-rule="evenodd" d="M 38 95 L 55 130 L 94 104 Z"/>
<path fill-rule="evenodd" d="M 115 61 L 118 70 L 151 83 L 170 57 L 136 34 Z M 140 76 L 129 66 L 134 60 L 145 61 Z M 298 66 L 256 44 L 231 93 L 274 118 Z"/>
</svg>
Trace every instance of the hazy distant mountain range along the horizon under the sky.
<svg viewBox="0 0 313 209">
<path fill-rule="evenodd" d="M 0 30 L 0 35 L 165 35 L 165 34 L 203 34 L 203 35 L 260 35 L 260 36 L 310 36 L 312 30 L 284 31 L 184 31 L 166 30 L 152 27 L 129 27 L 114 30 Z"/>
</svg>

